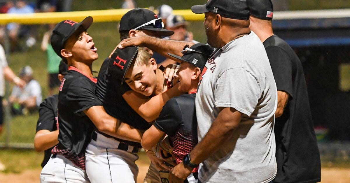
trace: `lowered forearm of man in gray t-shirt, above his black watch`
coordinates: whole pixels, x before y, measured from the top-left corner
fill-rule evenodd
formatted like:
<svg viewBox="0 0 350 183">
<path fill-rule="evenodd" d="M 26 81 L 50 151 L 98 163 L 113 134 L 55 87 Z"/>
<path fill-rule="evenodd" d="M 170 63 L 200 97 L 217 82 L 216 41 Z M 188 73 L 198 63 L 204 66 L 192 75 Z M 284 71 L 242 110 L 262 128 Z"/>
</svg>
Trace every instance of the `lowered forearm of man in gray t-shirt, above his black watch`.
<svg viewBox="0 0 350 183">
<path fill-rule="evenodd" d="M 191 162 L 199 164 L 209 158 L 232 137 L 241 119 L 241 113 L 232 112 L 232 108 L 224 108 L 212 123 L 209 131 L 191 151 Z"/>
</svg>

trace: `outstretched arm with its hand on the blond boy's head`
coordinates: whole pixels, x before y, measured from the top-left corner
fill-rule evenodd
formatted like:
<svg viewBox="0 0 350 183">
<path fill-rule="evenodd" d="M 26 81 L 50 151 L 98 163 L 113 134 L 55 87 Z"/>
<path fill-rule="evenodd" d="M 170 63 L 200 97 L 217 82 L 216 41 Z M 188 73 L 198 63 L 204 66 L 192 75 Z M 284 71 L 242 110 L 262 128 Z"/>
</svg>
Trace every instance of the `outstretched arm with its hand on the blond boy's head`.
<svg viewBox="0 0 350 183">
<path fill-rule="evenodd" d="M 194 43 L 187 41 L 159 39 L 151 36 L 137 36 L 124 39 L 118 44 L 117 47 L 123 49 L 129 46 L 145 46 L 152 51 L 165 56 L 166 58 L 173 59 L 170 55 L 168 55 L 168 53 L 182 55 L 181 51 L 185 45 L 192 46 Z M 111 55 L 114 53 L 114 50 Z"/>
</svg>

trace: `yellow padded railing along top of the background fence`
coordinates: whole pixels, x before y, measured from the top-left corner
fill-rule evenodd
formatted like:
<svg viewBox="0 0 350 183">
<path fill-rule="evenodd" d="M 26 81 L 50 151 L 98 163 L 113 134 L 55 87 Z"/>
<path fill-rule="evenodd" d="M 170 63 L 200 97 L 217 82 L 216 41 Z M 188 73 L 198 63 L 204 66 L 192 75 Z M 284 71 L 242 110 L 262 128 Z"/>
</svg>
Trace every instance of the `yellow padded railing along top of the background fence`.
<svg viewBox="0 0 350 183">
<path fill-rule="evenodd" d="M 33 13 L 33 14 L 0 14 L 0 24 L 17 22 L 20 24 L 46 24 L 58 23 L 62 20 L 70 19 L 81 21 L 87 16 L 92 16 L 94 22 L 116 22 L 128 12 L 129 9 L 108 9 L 91 10 L 79 12 L 52 12 L 52 13 Z M 175 15 L 182 15 L 188 21 L 204 20 L 203 14 L 194 14 L 191 10 L 174 10 Z"/>
</svg>

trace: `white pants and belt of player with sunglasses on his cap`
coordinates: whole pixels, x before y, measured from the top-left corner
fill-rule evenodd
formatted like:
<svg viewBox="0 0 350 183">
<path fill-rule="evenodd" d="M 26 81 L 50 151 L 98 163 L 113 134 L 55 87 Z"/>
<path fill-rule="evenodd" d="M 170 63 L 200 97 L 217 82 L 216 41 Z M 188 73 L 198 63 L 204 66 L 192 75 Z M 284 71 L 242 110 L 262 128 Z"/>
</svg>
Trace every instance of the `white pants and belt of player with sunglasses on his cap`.
<svg viewBox="0 0 350 183">
<path fill-rule="evenodd" d="M 137 154 L 119 150 L 119 142 L 97 134 L 86 148 L 86 174 L 91 183 L 135 183 L 139 169 Z"/>
</svg>

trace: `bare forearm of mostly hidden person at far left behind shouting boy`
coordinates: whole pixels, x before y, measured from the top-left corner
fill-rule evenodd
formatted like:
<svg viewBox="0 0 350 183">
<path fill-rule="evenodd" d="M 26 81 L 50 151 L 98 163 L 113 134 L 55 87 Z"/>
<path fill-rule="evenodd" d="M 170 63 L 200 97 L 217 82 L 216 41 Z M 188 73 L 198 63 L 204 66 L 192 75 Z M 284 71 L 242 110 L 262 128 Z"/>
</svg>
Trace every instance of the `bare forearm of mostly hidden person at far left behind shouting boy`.
<svg viewBox="0 0 350 183">
<path fill-rule="evenodd" d="M 40 130 L 41 131 L 41 130 Z M 34 148 L 37 152 L 47 150 L 58 144 L 58 130 L 41 133 L 38 131 L 34 137 Z"/>
</svg>

